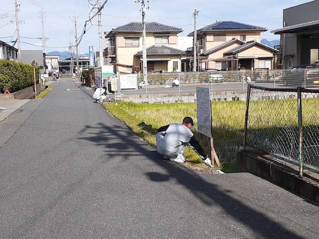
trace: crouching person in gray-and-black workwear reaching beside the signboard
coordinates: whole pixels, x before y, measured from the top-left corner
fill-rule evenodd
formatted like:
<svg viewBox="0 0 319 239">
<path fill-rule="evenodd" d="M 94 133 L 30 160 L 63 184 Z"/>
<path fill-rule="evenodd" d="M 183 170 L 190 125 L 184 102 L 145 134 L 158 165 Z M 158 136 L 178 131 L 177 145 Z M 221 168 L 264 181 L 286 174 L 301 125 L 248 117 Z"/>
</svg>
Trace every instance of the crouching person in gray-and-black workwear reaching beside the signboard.
<svg viewBox="0 0 319 239">
<path fill-rule="evenodd" d="M 193 119 L 185 117 L 181 124 L 171 123 L 158 129 L 156 134 L 157 150 L 163 155 L 164 159 L 178 163 L 185 162 L 184 150 L 186 145 L 189 145 L 207 165 L 211 164 L 211 160 L 206 158 L 204 149 L 199 145 L 190 130 L 193 125 Z"/>
</svg>

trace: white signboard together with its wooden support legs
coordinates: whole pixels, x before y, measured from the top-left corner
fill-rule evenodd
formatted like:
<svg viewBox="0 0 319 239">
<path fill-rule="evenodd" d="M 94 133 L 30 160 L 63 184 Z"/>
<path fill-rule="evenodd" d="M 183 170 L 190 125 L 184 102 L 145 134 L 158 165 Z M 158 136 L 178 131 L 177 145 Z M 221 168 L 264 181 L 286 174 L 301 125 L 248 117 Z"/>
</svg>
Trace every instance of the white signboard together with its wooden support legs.
<svg viewBox="0 0 319 239">
<path fill-rule="evenodd" d="M 210 159 L 213 166 L 220 165 L 219 158 L 214 149 L 213 128 L 212 128 L 212 114 L 210 89 L 205 87 L 196 87 L 196 101 L 197 101 L 197 132 L 200 133 L 201 141 L 209 149 Z"/>
</svg>

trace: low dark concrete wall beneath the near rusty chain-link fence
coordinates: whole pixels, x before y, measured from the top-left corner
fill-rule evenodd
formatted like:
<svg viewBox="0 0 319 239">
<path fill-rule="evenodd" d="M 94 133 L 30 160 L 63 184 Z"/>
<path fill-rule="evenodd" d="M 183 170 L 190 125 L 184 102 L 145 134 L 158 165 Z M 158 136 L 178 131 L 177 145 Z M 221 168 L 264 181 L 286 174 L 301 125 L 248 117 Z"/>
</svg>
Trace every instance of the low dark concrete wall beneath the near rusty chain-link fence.
<svg viewBox="0 0 319 239">
<path fill-rule="evenodd" d="M 302 197 L 319 203 L 319 175 L 304 170 L 299 177 L 298 168 L 281 164 L 263 152 L 243 151 L 237 154 L 237 171 L 249 172 L 262 177 Z M 297 205 L 296 205 L 297 206 Z"/>
</svg>

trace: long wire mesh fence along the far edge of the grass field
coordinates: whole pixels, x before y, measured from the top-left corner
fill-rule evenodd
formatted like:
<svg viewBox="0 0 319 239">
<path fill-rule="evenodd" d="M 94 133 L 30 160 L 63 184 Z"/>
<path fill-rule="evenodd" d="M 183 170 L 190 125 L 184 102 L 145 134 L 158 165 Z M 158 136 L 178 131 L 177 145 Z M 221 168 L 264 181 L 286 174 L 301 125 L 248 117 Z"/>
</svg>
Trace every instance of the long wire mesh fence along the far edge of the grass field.
<svg viewBox="0 0 319 239">
<path fill-rule="evenodd" d="M 139 74 L 136 86 L 124 89 L 121 94 L 195 93 L 198 86 L 209 87 L 211 92 L 246 91 L 248 83 L 268 88 L 316 87 L 319 86 L 319 68 L 149 73 L 147 84 L 139 86 L 142 81 L 143 74 Z"/>
</svg>

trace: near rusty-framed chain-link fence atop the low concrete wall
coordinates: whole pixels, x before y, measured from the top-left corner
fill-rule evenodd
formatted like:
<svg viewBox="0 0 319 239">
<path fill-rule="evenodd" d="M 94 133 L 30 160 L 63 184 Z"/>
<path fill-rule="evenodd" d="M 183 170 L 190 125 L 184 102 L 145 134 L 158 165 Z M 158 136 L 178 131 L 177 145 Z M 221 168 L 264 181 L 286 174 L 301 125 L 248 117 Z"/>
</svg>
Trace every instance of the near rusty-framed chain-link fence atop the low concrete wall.
<svg viewBox="0 0 319 239">
<path fill-rule="evenodd" d="M 319 90 L 248 86 L 245 147 L 319 173 Z"/>
</svg>

